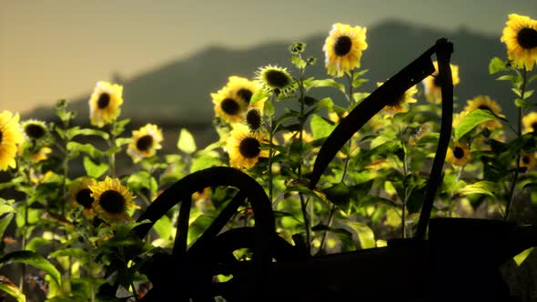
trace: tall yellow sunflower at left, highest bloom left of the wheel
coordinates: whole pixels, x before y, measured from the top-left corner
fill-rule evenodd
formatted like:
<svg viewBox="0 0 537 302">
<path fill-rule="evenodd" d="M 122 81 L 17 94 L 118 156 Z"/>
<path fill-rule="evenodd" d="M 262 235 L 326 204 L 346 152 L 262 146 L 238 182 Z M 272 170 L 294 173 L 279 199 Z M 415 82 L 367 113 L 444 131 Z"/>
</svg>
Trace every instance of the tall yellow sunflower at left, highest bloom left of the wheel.
<svg viewBox="0 0 537 302">
<path fill-rule="evenodd" d="M 123 86 L 99 81 L 89 98 L 89 118 L 91 124 L 102 127 L 117 119 L 123 104 Z"/>
</svg>

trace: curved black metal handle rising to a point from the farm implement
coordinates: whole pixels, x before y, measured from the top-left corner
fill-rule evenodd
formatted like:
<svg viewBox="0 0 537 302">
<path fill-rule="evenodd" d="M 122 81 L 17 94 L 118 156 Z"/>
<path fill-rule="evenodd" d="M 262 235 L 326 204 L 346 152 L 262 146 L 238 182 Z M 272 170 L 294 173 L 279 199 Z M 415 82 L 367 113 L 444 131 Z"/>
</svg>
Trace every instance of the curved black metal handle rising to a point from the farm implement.
<svg viewBox="0 0 537 302">
<path fill-rule="evenodd" d="M 453 45 L 447 39 L 439 39 L 427 51 L 415 59 L 412 63 L 404 67 L 395 76 L 390 77 L 384 85 L 373 91 L 370 96 L 360 102 L 349 114 L 343 118 L 334 131 L 327 137 L 320 147 L 319 154 L 315 160 L 312 174 L 310 175 L 309 188 L 314 188 L 319 182 L 319 178 L 324 170 L 329 166 L 330 161 L 336 156 L 339 149 L 349 141 L 350 137 L 364 126 L 371 117 L 390 102 L 396 100 L 405 93 L 411 86 L 418 84 L 426 76 L 430 76 L 434 71 L 431 55 L 436 54 L 439 62 L 439 83 L 441 85 L 442 114 L 441 114 L 441 134 L 439 144 L 431 168 L 429 187 L 420 214 L 418 225 L 419 238 L 425 237 L 425 230 L 431 216 L 432 202 L 438 186 L 441 184 L 441 170 L 446 157 L 447 148 L 451 138 L 451 120 L 453 114 L 453 84 L 451 79 L 450 58 L 453 52 Z M 424 228 L 424 229 L 423 229 Z"/>
</svg>

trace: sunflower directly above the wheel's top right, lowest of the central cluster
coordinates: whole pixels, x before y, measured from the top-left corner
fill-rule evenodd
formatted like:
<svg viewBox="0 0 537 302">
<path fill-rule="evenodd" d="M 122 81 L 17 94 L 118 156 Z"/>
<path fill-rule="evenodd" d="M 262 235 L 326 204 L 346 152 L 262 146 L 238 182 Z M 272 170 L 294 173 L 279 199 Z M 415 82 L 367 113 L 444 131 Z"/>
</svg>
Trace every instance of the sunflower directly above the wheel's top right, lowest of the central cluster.
<svg viewBox="0 0 537 302">
<path fill-rule="evenodd" d="M 259 157 L 269 156 L 268 150 L 261 150 L 264 138 L 260 131 L 251 132 L 246 125 L 234 124 L 226 145 L 229 166 L 250 168 L 258 163 Z"/>
</svg>

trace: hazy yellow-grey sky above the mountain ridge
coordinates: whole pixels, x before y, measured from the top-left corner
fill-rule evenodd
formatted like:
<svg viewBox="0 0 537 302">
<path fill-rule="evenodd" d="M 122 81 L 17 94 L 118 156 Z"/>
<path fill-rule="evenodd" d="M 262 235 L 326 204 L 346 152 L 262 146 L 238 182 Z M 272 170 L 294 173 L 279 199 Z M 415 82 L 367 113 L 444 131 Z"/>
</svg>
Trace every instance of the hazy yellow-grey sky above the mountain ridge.
<svg viewBox="0 0 537 302">
<path fill-rule="evenodd" d="M 500 38 L 510 13 L 535 19 L 537 1 L 0 0 L 0 110 L 81 96 L 112 72 L 136 76 L 208 45 L 290 43 L 387 18 Z"/>
</svg>

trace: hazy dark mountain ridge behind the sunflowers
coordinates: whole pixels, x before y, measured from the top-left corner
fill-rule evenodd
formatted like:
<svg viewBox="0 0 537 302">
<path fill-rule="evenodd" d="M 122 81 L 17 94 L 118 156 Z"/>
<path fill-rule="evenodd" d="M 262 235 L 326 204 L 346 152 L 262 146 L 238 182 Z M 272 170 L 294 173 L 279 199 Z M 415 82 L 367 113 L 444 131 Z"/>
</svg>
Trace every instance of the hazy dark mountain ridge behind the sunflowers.
<svg viewBox="0 0 537 302">
<path fill-rule="evenodd" d="M 174 129 L 177 134 L 180 127 L 187 127 L 195 134 L 203 132 L 207 142 L 214 141 L 217 135 L 211 126 L 214 114 L 210 93 L 224 86 L 228 76 L 252 78 L 258 67 L 264 65 L 288 66 L 292 73 L 294 70 L 289 62 L 288 47 L 294 42 L 306 43 L 305 55 L 318 60 L 317 65 L 308 69 L 307 76 L 328 77 L 322 52 L 327 34 L 328 31 L 302 41 L 270 42 L 248 49 L 208 47 L 186 59 L 120 80 L 122 82 L 119 84 L 124 86 L 125 99 L 122 117 L 131 118 L 133 126 L 151 122 Z M 398 20 L 371 26 L 367 32 L 369 47 L 361 59 L 362 68 L 369 70 L 365 77 L 370 81 L 360 87 L 360 90 L 374 90 L 377 82 L 393 76 L 441 37 L 446 37 L 453 43 L 451 60 L 453 64 L 460 65 L 461 84 L 455 86 L 457 102 L 463 106 L 467 99 L 474 96 L 489 95 L 502 106 L 508 118 L 513 118 L 510 84 L 495 81 L 494 76 L 488 72 L 492 57 L 505 56 L 505 46 L 500 42 L 500 36 L 481 35 L 465 28 L 446 32 Z M 324 97 L 323 93 L 319 90 L 313 96 Z M 76 97 L 70 103 L 71 108 L 79 113 L 78 122 L 81 124 L 87 123 L 88 98 L 89 96 Z M 43 107 L 27 116 L 49 119 L 53 112 L 53 108 Z"/>
</svg>

